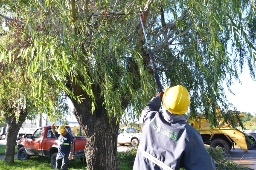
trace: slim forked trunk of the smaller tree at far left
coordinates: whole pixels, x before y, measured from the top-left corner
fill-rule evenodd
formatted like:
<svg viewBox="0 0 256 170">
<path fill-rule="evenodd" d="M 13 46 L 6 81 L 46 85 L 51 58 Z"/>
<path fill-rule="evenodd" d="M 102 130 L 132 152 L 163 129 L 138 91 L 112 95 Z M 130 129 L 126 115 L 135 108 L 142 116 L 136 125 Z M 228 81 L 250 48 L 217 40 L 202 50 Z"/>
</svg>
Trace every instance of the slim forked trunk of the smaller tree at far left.
<svg viewBox="0 0 256 170">
<path fill-rule="evenodd" d="M 7 123 L 7 131 L 6 131 L 7 142 L 6 142 L 6 150 L 5 150 L 5 156 L 4 156 L 5 162 L 14 162 L 17 135 L 19 133 L 21 125 L 26 119 L 26 115 L 27 115 L 26 110 L 20 111 L 20 116 L 19 116 L 19 119 L 17 120 L 14 113 L 12 113 L 11 116 L 8 116 L 8 114 L 4 114 L 6 118 L 6 123 Z"/>
</svg>

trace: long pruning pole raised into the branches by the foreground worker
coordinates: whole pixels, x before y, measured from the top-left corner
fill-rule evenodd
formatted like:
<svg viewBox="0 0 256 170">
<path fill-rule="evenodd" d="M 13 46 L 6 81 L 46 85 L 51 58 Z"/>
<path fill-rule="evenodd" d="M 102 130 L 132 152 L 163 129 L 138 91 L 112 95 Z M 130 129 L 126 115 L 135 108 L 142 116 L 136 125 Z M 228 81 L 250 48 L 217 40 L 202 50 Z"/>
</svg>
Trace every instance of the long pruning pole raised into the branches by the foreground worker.
<svg viewBox="0 0 256 170">
<path fill-rule="evenodd" d="M 142 12 L 140 11 L 140 13 L 142 13 Z M 151 62 L 151 65 L 152 65 L 152 68 L 153 68 L 153 71 L 154 71 L 154 77 L 155 77 L 156 82 L 157 82 L 157 88 L 158 88 L 159 92 L 162 92 L 163 91 L 162 86 L 161 86 L 160 79 L 159 79 L 159 76 L 158 76 L 158 73 L 157 73 L 156 65 L 154 63 L 154 58 L 153 58 L 153 55 L 152 55 L 152 52 L 151 52 L 151 49 L 150 49 L 150 44 L 148 44 L 148 39 L 146 37 L 146 32 L 145 32 L 145 29 L 144 29 L 144 26 L 143 26 L 141 15 L 140 15 L 140 23 L 141 23 L 141 26 L 142 26 L 142 29 L 143 29 L 143 32 L 144 32 L 144 37 L 145 37 L 145 40 L 146 40 L 146 43 L 147 43 L 148 54 L 149 54 L 150 62 Z"/>
</svg>

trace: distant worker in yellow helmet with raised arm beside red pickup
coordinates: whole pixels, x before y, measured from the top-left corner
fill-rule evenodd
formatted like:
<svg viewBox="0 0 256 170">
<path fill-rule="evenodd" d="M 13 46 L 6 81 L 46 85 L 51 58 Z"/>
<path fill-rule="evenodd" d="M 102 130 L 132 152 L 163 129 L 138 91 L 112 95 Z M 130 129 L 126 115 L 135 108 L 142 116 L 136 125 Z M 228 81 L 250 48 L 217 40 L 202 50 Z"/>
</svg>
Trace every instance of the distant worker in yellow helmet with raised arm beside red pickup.
<svg viewBox="0 0 256 170">
<path fill-rule="evenodd" d="M 74 150 L 73 137 L 67 132 L 64 125 L 58 127 L 58 132 L 54 129 L 55 122 L 52 124 L 52 132 L 59 141 L 56 166 L 58 170 L 68 170 L 68 164 L 72 159 Z"/>
</svg>

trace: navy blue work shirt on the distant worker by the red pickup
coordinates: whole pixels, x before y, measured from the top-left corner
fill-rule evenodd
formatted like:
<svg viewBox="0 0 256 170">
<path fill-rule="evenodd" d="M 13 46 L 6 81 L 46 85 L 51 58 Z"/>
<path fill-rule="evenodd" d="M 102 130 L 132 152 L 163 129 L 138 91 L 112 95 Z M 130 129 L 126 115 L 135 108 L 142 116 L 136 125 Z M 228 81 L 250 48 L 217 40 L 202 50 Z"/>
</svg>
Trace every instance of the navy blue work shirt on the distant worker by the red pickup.
<svg viewBox="0 0 256 170">
<path fill-rule="evenodd" d="M 71 150 L 70 144 L 73 143 L 73 137 L 69 133 L 63 137 L 58 134 L 58 132 L 55 132 L 55 136 L 59 141 L 58 155 L 61 157 L 68 157 Z"/>
</svg>

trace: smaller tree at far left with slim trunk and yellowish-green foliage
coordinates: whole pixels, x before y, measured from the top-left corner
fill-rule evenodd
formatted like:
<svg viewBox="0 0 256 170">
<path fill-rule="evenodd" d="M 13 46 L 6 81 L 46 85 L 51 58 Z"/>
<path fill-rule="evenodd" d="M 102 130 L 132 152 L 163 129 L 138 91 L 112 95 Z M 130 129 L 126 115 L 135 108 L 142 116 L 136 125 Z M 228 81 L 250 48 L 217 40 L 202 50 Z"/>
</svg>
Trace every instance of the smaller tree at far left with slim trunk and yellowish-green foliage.
<svg viewBox="0 0 256 170">
<path fill-rule="evenodd" d="M 47 104 L 38 100 L 38 94 L 31 93 L 31 79 L 20 64 L 0 65 L 0 119 L 7 124 L 7 142 L 4 161 L 14 162 L 15 142 L 18 132 L 26 119 L 33 120 L 42 113 L 49 117 L 67 115 L 69 108 L 59 91 L 49 86 L 41 87 L 41 94 L 50 94 Z M 49 96 L 46 96 L 49 97 Z M 56 107 L 61 110 L 55 109 Z M 55 113 L 57 111 L 57 113 Z"/>
</svg>

